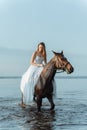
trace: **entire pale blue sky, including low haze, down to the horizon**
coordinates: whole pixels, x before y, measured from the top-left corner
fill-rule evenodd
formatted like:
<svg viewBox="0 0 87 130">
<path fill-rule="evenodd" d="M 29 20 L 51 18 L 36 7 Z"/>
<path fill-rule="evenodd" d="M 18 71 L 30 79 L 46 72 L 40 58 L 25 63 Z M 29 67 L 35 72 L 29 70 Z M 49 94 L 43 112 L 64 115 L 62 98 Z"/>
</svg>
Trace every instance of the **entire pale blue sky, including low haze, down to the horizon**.
<svg viewBox="0 0 87 130">
<path fill-rule="evenodd" d="M 24 73 L 31 56 L 27 50 L 41 41 L 50 54 L 67 54 L 74 75 L 87 75 L 87 0 L 0 0 L 0 74 Z"/>
</svg>

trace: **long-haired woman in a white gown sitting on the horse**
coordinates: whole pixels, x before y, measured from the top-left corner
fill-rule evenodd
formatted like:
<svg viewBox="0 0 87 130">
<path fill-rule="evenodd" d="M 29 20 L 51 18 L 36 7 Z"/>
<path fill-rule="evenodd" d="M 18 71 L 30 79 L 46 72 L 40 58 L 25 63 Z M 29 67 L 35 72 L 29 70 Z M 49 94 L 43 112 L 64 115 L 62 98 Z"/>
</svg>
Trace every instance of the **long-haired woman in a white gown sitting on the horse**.
<svg viewBox="0 0 87 130">
<path fill-rule="evenodd" d="M 31 65 L 21 79 L 20 89 L 22 92 L 22 107 L 32 103 L 34 86 L 46 62 L 46 48 L 45 44 L 41 42 L 38 44 L 37 50 L 32 55 Z"/>
</svg>

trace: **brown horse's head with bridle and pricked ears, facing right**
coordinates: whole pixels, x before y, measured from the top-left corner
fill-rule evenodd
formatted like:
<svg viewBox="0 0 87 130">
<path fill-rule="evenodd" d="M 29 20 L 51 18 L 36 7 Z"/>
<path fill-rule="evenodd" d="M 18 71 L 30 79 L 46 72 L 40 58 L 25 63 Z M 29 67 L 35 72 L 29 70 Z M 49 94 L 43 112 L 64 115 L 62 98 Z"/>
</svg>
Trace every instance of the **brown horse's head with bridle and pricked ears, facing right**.
<svg viewBox="0 0 87 130">
<path fill-rule="evenodd" d="M 73 66 L 71 63 L 67 60 L 67 58 L 64 56 L 63 51 L 61 53 L 54 52 L 54 62 L 56 69 L 61 69 L 66 71 L 68 74 L 72 73 L 74 71 Z"/>
</svg>

